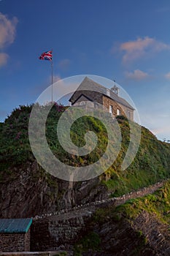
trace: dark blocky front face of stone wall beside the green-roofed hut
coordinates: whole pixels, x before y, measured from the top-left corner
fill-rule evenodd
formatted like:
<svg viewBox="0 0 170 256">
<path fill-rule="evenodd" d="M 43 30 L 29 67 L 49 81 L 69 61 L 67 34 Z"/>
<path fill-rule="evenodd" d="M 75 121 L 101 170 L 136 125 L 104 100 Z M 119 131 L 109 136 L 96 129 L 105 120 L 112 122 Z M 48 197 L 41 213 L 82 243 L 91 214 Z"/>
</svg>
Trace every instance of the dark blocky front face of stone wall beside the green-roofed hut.
<svg viewBox="0 0 170 256">
<path fill-rule="evenodd" d="M 39 219 L 31 226 L 31 251 L 70 249 L 85 228 L 91 212 Z"/>
</svg>

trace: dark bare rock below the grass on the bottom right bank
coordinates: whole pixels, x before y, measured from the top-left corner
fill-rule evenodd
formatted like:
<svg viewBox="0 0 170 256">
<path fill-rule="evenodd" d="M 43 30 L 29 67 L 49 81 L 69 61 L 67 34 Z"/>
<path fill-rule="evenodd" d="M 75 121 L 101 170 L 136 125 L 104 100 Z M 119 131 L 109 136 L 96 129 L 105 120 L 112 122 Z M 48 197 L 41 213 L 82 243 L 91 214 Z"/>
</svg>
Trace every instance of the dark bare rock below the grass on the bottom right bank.
<svg viewBox="0 0 170 256">
<path fill-rule="evenodd" d="M 93 225 L 93 224 L 92 224 Z M 121 221 L 113 220 L 107 217 L 107 222 L 102 225 L 93 225 L 90 233 L 96 233 L 96 237 L 100 239 L 98 248 L 88 249 L 86 235 L 84 241 L 77 246 L 77 251 L 84 245 L 85 256 L 134 256 L 134 255 L 166 255 L 170 254 L 170 240 L 168 225 L 163 225 L 152 214 L 143 211 L 134 222 L 127 219 Z M 96 239 L 97 241 L 97 239 Z M 85 252 L 86 251 L 86 252 Z"/>
</svg>

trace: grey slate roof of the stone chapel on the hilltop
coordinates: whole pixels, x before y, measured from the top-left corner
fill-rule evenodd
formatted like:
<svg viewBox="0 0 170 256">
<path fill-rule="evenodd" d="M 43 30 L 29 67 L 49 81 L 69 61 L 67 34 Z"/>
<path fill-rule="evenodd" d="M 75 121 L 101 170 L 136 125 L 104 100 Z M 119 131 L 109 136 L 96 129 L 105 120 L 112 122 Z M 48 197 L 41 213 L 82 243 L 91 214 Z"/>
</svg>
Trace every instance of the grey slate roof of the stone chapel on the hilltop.
<svg viewBox="0 0 170 256">
<path fill-rule="evenodd" d="M 99 93 L 103 94 L 106 97 L 109 97 L 110 99 L 113 99 L 115 102 L 120 103 L 121 105 L 124 105 L 125 107 L 130 108 L 131 110 L 134 110 L 134 108 L 123 98 L 119 97 L 115 92 L 112 90 L 107 89 L 104 86 L 101 86 L 101 84 L 96 83 L 92 79 L 85 77 L 84 80 L 82 80 L 82 83 L 80 83 L 80 86 L 77 88 L 77 91 L 98 91 Z M 107 90 L 110 92 L 110 96 L 107 95 Z M 76 101 L 76 91 L 72 95 L 72 97 L 69 99 L 70 102 Z"/>
</svg>

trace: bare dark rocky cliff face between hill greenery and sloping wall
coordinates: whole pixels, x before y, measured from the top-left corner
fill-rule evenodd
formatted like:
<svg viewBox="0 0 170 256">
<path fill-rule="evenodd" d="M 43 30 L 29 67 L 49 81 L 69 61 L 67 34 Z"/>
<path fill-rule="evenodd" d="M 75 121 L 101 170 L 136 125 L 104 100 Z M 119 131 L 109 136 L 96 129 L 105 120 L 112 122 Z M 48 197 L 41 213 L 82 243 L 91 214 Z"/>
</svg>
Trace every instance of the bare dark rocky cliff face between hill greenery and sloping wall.
<svg viewBox="0 0 170 256">
<path fill-rule="evenodd" d="M 35 217 L 107 197 L 98 178 L 81 184 L 61 181 L 36 162 L 12 168 L 0 184 L 1 218 Z"/>
</svg>

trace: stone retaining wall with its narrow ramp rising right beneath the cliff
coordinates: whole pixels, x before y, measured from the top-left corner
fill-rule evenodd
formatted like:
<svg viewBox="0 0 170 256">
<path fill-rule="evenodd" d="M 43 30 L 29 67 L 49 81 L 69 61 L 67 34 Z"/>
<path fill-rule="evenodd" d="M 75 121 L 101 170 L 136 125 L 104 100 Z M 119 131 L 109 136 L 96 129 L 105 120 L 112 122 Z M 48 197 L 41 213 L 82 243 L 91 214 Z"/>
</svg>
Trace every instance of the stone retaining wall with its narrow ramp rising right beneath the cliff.
<svg viewBox="0 0 170 256">
<path fill-rule="evenodd" d="M 37 216 L 31 225 L 31 251 L 72 249 L 72 245 L 85 230 L 86 223 L 97 208 L 119 206 L 129 199 L 151 194 L 162 186 L 163 182 L 158 182 L 120 197 L 98 200 L 70 210 Z"/>
</svg>

